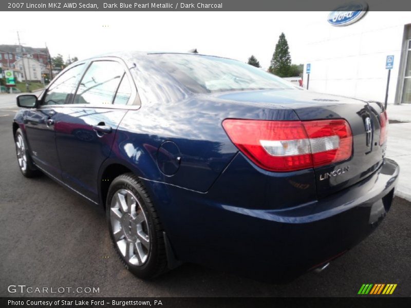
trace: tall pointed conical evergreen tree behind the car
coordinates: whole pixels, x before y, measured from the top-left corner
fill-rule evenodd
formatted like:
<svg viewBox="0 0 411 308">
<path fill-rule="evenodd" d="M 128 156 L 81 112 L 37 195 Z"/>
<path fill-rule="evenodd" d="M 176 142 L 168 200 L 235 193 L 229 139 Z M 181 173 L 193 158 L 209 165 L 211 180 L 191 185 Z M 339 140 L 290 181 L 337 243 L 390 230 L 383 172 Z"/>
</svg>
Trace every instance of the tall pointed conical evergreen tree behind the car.
<svg viewBox="0 0 411 308">
<path fill-rule="evenodd" d="M 278 38 L 278 42 L 275 45 L 275 51 L 271 59 L 271 65 L 268 71 L 279 77 L 287 77 L 290 73 L 291 56 L 288 48 L 288 43 L 284 33 Z"/>
</svg>

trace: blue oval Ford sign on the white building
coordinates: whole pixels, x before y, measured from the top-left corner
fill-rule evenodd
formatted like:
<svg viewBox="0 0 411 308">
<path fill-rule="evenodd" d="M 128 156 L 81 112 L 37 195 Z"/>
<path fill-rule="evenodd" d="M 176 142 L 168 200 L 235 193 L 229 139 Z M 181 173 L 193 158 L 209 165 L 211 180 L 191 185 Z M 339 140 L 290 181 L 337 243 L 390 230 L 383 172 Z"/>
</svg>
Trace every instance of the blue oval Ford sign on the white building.
<svg viewBox="0 0 411 308">
<path fill-rule="evenodd" d="M 365 2 L 346 3 L 328 14 L 328 22 L 333 26 L 348 26 L 358 22 L 367 10 Z"/>
</svg>

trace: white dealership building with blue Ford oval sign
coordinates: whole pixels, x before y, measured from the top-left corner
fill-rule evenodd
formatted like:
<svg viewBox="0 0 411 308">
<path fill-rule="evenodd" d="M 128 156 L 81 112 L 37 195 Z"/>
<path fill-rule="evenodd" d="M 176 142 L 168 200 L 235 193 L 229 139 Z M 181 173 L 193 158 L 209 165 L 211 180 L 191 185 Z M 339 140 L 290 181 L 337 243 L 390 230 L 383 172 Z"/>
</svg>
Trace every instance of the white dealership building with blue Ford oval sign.
<svg viewBox="0 0 411 308">
<path fill-rule="evenodd" d="M 384 102 L 389 74 L 388 104 L 411 103 L 409 12 L 324 12 L 302 32 L 304 87 Z"/>
</svg>

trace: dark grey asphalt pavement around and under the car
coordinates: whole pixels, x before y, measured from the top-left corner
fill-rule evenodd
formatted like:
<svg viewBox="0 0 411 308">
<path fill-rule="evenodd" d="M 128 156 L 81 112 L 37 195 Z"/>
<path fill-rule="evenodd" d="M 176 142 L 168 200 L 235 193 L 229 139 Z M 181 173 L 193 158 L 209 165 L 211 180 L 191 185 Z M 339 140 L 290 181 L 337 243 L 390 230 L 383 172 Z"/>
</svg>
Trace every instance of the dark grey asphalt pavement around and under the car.
<svg viewBox="0 0 411 308">
<path fill-rule="evenodd" d="M 363 283 L 397 283 L 394 295 L 411 296 L 411 204 L 399 198 L 375 233 L 321 274 L 273 285 L 184 264 L 139 280 L 115 256 L 102 209 L 45 176 L 20 174 L 11 132 L 16 108 L 0 107 L 0 296 L 41 295 L 7 292 L 10 284 L 25 284 L 98 287 L 100 293 L 87 294 L 95 296 L 345 297 Z"/>
</svg>

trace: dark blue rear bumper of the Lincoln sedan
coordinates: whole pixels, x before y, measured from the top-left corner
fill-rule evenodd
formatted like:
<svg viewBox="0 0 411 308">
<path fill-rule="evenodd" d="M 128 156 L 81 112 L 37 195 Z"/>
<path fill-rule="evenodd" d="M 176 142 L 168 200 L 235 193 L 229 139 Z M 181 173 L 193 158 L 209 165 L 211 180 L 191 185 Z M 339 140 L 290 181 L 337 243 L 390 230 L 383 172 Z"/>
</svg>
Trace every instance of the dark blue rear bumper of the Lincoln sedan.
<svg viewBox="0 0 411 308">
<path fill-rule="evenodd" d="M 173 187 L 169 197 L 174 206 L 167 208 L 178 215 L 171 218 L 176 215 L 169 213 L 166 229 L 183 261 L 286 282 L 366 238 L 388 212 L 398 175 L 398 164 L 385 159 L 367 179 L 286 209 L 236 207 L 216 201 L 212 194 L 182 194 Z"/>
</svg>

